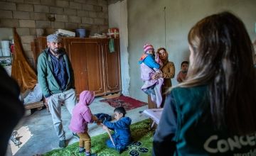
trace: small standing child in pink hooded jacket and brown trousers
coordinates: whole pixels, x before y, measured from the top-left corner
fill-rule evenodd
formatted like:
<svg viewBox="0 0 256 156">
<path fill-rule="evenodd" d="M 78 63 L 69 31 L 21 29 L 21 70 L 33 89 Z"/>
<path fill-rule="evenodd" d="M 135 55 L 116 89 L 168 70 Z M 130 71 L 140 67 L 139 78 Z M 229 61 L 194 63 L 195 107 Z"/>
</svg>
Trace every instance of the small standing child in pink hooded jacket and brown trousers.
<svg viewBox="0 0 256 156">
<path fill-rule="evenodd" d="M 78 104 L 75 105 L 72 112 L 70 121 L 70 130 L 77 133 L 79 136 L 79 152 L 85 152 L 85 155 L 95 156 L 91 154 L 91 140 L 90 135 L 87 133 L 87 123 L 97 121 L 97 118 L 92 115 L 89 105 L 95 99 L 95 94 L 92 91 L 82 91 Z"/>
</svg>

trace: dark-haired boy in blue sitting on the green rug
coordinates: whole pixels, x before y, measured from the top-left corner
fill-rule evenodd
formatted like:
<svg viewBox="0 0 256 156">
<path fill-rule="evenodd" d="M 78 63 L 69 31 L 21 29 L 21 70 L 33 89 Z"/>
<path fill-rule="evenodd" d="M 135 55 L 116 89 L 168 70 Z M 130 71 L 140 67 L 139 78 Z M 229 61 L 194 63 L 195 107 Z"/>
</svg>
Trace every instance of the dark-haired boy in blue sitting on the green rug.
<svg viewBox="0 0 256 156">
<path fill-rule="evenodd" d="M 131 143 L 131 130 L 130 125 L 132 119 L 125 117 L 126 111 L 124 107 L 117 107 L 114 109 L 114 118 L 117 122 L 103 121 L 103 129 L 107 130 L 110 135 L 110 130 L 114 130 L 114 134 L 110 135 L 110 139 L 107 140 L 107 147 L 116 149 L 121 153 L 127 145 Z"/>
</svg>

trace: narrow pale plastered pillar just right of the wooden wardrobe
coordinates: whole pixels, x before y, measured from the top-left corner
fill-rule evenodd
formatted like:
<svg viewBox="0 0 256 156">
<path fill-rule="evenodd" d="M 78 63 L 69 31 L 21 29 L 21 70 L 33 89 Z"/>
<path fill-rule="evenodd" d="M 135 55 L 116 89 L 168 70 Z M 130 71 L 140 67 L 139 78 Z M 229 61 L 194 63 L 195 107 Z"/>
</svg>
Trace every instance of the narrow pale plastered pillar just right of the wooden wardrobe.
<svg viewBox="0 0 256 156">
<path fill-rule="evenodd" d="M 109 26 L 119 28 L 122 94 L 129 96 L 127 0 L 109 3 Z"/>
</svg>

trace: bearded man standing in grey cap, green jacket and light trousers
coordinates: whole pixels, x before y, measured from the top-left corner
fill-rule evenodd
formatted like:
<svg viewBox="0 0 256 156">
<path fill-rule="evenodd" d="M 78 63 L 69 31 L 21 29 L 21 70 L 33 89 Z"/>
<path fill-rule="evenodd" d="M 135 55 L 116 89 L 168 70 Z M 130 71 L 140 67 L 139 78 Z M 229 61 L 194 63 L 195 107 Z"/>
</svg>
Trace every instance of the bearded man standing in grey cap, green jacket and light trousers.
<svg viewBox="0 0 256 156">
<path fill-rule="evenodd" d="M 56 34 L 47 36 L 48 48 L 38 57 L 38 82 L 53 118 L 53 126 L 60 139 L 59 146 L 65 147 L 65 131 L 61 120 L 61 104 L 70 114 L 76 104 L 74 73 L 61 39 Z"/>
</svg>

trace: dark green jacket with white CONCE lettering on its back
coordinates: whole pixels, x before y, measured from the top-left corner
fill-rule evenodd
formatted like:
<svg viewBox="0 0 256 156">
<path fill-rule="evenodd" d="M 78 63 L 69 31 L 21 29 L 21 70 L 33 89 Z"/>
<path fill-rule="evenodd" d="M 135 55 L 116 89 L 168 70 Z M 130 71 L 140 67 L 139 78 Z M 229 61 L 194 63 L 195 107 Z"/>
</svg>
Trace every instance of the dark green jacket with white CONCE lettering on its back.
<svg viewBox="0 0 256 156">
<path fill-rule="evenodd" d="M 166 97 L 153 141 L 153 155 L 256 155 L 256 133 L 216 130 L 207 86 L 176 87 Z"/>
</svg>

